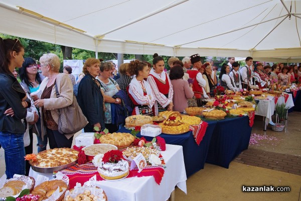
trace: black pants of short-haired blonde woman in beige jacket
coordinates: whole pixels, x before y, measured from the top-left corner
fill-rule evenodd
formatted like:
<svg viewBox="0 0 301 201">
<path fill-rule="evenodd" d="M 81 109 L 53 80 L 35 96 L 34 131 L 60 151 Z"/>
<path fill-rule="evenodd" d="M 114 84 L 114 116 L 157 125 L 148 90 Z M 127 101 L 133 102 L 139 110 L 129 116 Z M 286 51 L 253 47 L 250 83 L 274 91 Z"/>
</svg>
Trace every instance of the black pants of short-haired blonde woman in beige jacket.
<svg viewBox="0 0 301 201">
<path fill-rule="evenodd" d="M 58 130 L 50 130 L 47 128 L 48 142 L 50 149 L 54 148 L 71 148 L 73 136 L 69 139 L 64 134 L 61 134 Z"/>
</svg>

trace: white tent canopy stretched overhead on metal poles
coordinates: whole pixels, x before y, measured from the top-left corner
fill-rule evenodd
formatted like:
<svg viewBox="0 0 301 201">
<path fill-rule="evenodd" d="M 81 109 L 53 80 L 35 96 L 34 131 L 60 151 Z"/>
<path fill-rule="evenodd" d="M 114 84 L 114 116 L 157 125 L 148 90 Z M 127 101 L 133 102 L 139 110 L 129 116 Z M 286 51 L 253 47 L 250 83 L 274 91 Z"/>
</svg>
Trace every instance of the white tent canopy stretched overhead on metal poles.
<svg viewBox="0 0 301 201">
<path fill-rule="evenodd" d="M 0 26 L 96 52 L 301 61 L 300 0 L 1 0 Z"/>
</svg>

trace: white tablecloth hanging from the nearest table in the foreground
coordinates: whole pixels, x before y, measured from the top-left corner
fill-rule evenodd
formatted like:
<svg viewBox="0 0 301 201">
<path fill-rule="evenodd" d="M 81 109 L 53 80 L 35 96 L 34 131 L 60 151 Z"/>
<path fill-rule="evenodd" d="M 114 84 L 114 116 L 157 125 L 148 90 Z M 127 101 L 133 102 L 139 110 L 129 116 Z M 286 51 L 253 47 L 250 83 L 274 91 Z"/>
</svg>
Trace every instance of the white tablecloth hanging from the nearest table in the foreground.
<svg viewBox="0 0 301 201">
<path fill-rule="evenodd" d="M 105 191 L 108 200 L 166 201 L 176 185 L 187 193 L 182 146 L 167 144 L 162 156 L 167 167 L 160 185 L 153 176 L 144 176 L 119 181 L 97 181 L 97 186 Z M 30 176 L 36 178 L 38 174 L 52 178 L 52 173 L 38 173 L 30 169 Z"/>
</svg>

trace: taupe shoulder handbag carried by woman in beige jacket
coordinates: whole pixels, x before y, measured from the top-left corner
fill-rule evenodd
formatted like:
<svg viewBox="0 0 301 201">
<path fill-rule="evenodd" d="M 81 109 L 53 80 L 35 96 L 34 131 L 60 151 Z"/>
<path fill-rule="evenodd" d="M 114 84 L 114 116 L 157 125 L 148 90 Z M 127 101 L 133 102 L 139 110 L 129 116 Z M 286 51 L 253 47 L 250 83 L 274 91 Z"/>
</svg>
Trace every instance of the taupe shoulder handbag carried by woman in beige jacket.
<svg viewBox="0 0 301 201">
<path fill-rule="evenodd" d="M 55 90 L 57 97 L 60 96 L 57 83 L 55 82 Z M 59 112 L 59 132 L 61 134 L 72 134 L 82 130 L 87 124 L 88 120 L 83 115 L 76 97 L 73 94 L 73 101 L 70 106 L 58 109 Z"/>
</svg>

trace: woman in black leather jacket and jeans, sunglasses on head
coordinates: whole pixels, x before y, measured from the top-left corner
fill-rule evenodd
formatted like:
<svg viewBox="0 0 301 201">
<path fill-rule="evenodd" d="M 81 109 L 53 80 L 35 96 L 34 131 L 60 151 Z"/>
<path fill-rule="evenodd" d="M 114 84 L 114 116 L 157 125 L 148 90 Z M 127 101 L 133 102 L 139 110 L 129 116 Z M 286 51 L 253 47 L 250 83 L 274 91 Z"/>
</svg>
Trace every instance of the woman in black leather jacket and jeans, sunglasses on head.
<svg viewBox="0 0 301 201">
<path fill-rule="evenodd" d="M 13 72 L 24 62 L 24 47 L 19 39 L 0 37 L 0 145 L 4 149 L 6 176 L 25 174 L 24 133 L 22 119 L 31 106 L 27 93 L 23 90 Z"/>
</svg>

